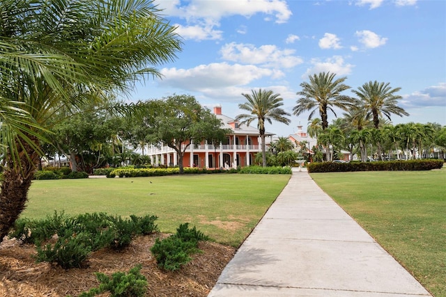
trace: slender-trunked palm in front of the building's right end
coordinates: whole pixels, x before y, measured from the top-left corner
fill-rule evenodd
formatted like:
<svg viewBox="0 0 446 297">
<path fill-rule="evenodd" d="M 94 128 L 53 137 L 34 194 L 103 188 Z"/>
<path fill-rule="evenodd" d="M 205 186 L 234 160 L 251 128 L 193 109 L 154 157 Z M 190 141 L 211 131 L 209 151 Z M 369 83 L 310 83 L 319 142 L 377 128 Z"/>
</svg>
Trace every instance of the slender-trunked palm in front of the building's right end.
<svg viewBox="0 0 446 297">
<path fill-rule="evenodd" d="M 289 125 L 291 122 L 287 115 L 290 115 L 279 106 L 284 105 L 280 94 L 272 93 L 272 90 L 252 90 L 252 94 L 242 94 L 247 102 L 238 104 L 239 109 L 249 111 L 236 116 L 236 120 L 242 124 L 249 125 L 257 120 L 257 128 L 261 137 L 262 147 L 262 164 L 266 167 L 266 145 L 265 145 L 265 122 L 272 123 L 272 120 L 283 122 Z"/>
</svg>

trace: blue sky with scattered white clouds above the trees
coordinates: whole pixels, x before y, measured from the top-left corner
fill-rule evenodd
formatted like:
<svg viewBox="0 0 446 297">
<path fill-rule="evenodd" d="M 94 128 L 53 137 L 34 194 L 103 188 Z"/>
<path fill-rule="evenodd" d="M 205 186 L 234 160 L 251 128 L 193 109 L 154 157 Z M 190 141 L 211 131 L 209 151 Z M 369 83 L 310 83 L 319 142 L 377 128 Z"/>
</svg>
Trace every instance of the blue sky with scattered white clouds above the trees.
<svg viewBox="0 0 446 297">
<path fill-rule="evenodd" d="M 159 66 L 162 79 L 137 84 L 130 101 L 193 95 L 203 106 L 235 118 L 242 94 L 272 90 L 291 123 L 266 123 L 288 136 L 309 112 L 293 115 L 297 92 L 309 75 L 346 77 L 344 95 L 369 81 L 401 88 L 394 125 L 446 125 L 446 1 L 155 0 L 177 27 L 183 49 Z M 343 111 L 337 110 L 341 117 Z M 314 115 L 318 117 L 318 113 Z M 335 119 L 329 113 L 328 120 Z M 252 124 L 256 127 L 256 121 Z"/>
</svg>

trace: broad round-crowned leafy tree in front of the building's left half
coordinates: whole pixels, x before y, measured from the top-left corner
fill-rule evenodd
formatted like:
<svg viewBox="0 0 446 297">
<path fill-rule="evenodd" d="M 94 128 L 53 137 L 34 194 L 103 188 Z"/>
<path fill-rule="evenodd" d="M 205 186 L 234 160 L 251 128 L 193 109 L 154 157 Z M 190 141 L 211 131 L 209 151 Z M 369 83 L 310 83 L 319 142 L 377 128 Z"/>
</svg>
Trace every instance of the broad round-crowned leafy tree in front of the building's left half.
<svg viewBox="0 0 446 297">
<path fill-rule="evenodd" d="M 216 136 L 220 136 L 222 142 L 230 133 L 222 129 L 220 119 L 204 109 L 193 96 L 172 95 L 158 103 L 160 112 L 155 115 L 148 138 L 153 144 L 163 143 L 175 150 L 181 174 L 187 147 L 208 139 L 216 140 Z"/>
</svg>

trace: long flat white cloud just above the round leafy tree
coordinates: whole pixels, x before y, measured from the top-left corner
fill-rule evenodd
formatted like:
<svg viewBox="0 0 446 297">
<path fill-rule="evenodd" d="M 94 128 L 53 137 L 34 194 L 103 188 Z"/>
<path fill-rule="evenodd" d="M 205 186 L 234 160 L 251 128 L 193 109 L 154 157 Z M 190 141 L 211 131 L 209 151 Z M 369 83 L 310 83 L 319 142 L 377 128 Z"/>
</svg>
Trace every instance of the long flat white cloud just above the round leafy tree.
<svg viewBox="0 0 446 297">
<path fill-rule="evenodd" d="M 206 89 L 244 86 L 263 77 L 278 79 L 284 76 L 279 70 L 228 63 L 198 65 L 190 69 L 164 68 L 161 74 L 164 77 L 160 81 L 160 86 L 200 92 Z"/>
</svg>

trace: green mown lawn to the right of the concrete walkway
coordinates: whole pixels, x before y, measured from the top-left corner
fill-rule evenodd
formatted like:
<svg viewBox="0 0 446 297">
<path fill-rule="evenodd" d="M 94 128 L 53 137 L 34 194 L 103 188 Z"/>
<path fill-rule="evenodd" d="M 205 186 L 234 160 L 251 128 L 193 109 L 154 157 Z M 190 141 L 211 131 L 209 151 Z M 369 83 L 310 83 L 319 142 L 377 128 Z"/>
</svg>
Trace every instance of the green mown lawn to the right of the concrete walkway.
<svg viewBox="0 0 446 297">
<path fill-rule="evenodd" d="M 446 171 L 311 175 L 433 296 L 446 296 Z"/>
</svg>

